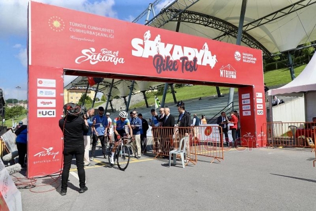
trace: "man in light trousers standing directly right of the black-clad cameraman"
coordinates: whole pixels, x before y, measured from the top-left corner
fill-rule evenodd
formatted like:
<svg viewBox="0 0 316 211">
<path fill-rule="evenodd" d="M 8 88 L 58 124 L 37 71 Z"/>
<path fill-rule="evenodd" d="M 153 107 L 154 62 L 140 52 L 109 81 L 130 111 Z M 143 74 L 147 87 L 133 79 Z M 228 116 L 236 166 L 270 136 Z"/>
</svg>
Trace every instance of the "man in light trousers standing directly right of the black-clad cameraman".
<svg viewBox="0 0 316 211">
<path fill-rule="evenodd" d="M 93 125 L 93 115 L 94 115 L 94 109 L 89 108 L 87 113 L 85 114 L 85 118 L 87 119 L 89 129 L 87 132 L 84 131 L 84 146 L 85 146 L 85 155 L 84 155 L 84 166 L 94 166 L 90 163 L 90 157 L 89 157 L 89 151 L 91 146 L 91 135 L 92 135 L 92 125 Z"/>
</svg>

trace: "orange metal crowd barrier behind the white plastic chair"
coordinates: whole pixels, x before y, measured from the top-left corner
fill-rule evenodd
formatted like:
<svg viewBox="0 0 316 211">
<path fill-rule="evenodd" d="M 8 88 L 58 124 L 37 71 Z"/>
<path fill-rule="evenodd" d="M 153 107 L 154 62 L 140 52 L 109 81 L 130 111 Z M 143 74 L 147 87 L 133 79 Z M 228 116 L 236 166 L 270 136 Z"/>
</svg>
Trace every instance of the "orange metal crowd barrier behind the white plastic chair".
<svg viewBox="0 0 316 211">
<path fill-rule="evenodd" d="M 169 152 L 179 147 L 179 141 L 189 136 L 187 160 L 197 163 L 197 156 L 213 157 L 224 160 L 223 137 L 219 126 L 193 127 L 152 127 L 153 152 L 157 156 L 169 156 Z"/>
</svg>

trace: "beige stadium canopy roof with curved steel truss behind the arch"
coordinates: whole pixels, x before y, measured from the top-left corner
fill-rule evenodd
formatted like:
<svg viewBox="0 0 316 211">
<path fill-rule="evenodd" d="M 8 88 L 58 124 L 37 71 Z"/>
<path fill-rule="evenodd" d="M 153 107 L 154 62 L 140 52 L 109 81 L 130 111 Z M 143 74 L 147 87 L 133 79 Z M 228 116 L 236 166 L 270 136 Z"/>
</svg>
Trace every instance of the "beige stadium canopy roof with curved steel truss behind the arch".
<svg viewBox="0 0 316 211">
<path fill-rule="evenodd" d="M 156 0 L 133 22 L 143 20 L 151 27 L 235 44 L 242 3 L 241 0 Z M 316 0 L 247 1 L 241 45 L 261 49 L 264 56 L 271 56 L 316 40 L 315 3 Z M 66 89 L 88 84 L 83 76 L 68 82 Z M 128 80 L 115 80 L 111 96 L 127 96 L 130 84 Z M 159 84 L 136 81 L 135 89 L 144 91 Z M 105 79 L 99 91 L 107 95 L 110 85 L 111 79 Z"/>
</svg>

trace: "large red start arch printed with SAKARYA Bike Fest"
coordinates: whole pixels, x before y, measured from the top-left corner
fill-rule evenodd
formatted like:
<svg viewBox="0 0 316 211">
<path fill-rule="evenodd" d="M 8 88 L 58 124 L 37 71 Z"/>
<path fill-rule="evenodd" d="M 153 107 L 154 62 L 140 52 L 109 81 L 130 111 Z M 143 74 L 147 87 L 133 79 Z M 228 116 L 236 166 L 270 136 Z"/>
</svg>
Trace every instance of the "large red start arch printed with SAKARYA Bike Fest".
<svg viewBox="0 0 316 211">
<path fill-rule="evenodd" d="M 30 2 L 28 62 L 28 177 L 62 168 L 64 74 L 238 88 L 243 144 L 266 146 L 260 50 Z"/>
</svg>

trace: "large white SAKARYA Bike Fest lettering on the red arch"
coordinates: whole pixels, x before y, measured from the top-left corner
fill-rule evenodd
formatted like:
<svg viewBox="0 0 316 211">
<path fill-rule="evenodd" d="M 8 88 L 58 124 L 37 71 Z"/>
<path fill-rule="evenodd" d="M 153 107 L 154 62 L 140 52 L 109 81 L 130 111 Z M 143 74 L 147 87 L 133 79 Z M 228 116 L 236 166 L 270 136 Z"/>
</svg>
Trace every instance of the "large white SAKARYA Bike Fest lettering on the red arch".
<svg viewBox="0 0 316 211">
<path fill-rule="evenodd" d="M 198 65 L 209 65 L 213 69 L 217 63 L 216 55 L 212 55 L 212 52 L 208 50 L 206 42 L 202 49 L 197 49 L 164 43 L 160 34 L 156 35 L 154 40 L 150 40 L 150 38 L 151 33 L 148 30 L 144 33 L 143 38 L 132 39 L 131 54 L 135 57 L 152 57 L 153 65 L 159 74 L 162 71 L 177 71 L 179 66 L 182 72 L 197 71 Z"/>
</svg>

